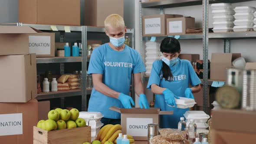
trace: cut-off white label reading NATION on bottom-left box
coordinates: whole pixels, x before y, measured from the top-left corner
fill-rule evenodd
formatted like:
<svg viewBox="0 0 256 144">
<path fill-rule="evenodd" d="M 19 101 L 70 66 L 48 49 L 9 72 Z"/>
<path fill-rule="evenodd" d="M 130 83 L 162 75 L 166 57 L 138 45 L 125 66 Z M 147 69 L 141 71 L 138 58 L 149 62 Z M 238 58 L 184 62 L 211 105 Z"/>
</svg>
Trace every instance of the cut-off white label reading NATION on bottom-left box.
<svg viewBox="0 0 256 144">
<path fill-rule="evenodd" d="M 0 115 L 0 136 L 23 134 L 22 113 Z"/>
</svg>

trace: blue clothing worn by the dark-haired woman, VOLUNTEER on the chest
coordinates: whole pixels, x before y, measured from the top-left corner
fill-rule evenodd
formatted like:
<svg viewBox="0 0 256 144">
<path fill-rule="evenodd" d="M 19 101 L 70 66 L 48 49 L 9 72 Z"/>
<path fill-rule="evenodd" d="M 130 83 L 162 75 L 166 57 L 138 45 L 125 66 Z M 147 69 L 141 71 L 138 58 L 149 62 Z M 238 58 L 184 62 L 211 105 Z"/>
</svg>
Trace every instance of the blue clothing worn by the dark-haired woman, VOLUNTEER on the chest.
<svg viewBox="0 0 256 144">
<path fill-rule="evenodd" d="M 162 62 L 162 60 L 154 61 L 148 80 L 148 89 L 151 89 L 152 84 L 156 84 L 162 88 L 170 89 L 174 95 L 185 97 L 185 90 L 189 87 L 189 84 L 195 86 L 201 83 L 190 61 L 185 59 L 179 59 L 174 66 L 170 66 L 173 77 L 170 78 L 171 81 L 165 80 L 161 71 Z M 156 95 L 154 107 L 161 108 L 161 111 L 174 111 L 173 115 L 161 115 L 161 128 L 177 128 L 180 118 L 184 117 L 183 114 L 186 111 L 189 111 L 189 108 L 169 107 L 164 100 L 164 95 Z"/>
</svg>

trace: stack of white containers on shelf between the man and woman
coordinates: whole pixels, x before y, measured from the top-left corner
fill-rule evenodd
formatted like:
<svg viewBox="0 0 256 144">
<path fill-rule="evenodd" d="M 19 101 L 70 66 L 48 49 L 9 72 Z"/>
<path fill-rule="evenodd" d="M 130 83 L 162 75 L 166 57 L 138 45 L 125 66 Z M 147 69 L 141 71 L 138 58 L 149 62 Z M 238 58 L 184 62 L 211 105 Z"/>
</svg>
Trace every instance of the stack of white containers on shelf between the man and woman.
<svg viewBox="0 0 256 144">
<path fill-rule="evenodd" d="M 158 42 L 146 42 L 146 72 L 145 75 L 150 75 L 152 64 L 155 60 L 160 58 L 160 43 Z"/>
</svg>

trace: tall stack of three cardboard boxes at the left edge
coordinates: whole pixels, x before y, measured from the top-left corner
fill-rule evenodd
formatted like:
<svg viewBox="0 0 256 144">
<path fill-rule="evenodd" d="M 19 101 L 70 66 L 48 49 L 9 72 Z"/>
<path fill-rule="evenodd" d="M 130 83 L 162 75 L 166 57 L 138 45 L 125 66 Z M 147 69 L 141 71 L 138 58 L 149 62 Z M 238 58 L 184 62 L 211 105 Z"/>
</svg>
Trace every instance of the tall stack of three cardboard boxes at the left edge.
<svg viewBox="0 0 256 144">
<path fill-rule="evenodd" d="M 42 33 L 26 26 L 0 26 L 0 141 L 4 144 L 33 144 L 38 115 L 49 111 L 49 101 L 35 99 L 36 54 L 30 54 L 29 36 L 36 34 Z"/>
</svg>

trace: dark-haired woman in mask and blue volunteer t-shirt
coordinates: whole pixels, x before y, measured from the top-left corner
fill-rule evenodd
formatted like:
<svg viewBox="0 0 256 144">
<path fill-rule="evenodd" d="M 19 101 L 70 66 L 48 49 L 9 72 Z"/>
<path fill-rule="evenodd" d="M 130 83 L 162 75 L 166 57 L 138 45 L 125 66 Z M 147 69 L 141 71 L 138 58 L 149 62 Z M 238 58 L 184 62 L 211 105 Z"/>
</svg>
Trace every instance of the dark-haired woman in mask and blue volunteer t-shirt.
<svg viewBox="0 0 256 144">
<path fill-rule="evenodd" d="M 161 108 L 161 111 L 174 111 L 173 115 L 161 115 L 160 128 L 177 128 L 180 117 L 183 117 L 189 108 L 176 108 L 174 98 L 194 99 L 193 93 L 201 90 L 201 81 L 191 62 L 178 58 L 181 46 L 177 39 L 165 38 L 161 42 L 160 51 L 164 58 L 153 62 L 147 88 L 156 94 L 155 108 Z M 191 88 L 189 84 L 192 85 Z"/>
</svg>

